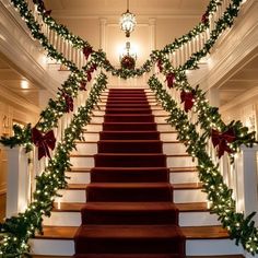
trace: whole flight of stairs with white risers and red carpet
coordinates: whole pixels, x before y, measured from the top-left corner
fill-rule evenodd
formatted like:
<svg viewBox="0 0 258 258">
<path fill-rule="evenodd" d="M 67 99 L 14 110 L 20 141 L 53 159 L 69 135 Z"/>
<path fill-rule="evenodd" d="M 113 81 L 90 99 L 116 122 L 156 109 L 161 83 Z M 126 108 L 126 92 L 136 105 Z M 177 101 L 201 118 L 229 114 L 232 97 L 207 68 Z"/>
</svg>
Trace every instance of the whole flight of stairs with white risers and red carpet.
<svg viewBox="0 0 258 258">
<path fill-rule="evenodd" d="M 207 208 L 198 174 L 146 89 L 110 89 L 72 153 L 69 187 L 35 255 L 243 257 Z"/>
</svg>

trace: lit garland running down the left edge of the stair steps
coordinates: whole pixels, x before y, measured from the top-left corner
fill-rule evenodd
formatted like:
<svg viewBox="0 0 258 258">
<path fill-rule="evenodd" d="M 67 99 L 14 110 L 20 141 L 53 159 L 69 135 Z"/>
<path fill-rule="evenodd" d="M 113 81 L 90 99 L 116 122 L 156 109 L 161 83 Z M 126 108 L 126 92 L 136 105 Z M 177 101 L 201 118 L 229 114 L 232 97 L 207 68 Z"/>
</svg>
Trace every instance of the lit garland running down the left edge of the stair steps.
<svg viewBox="0 0 258 258">
<path fill-rule="evenodd" d="M 91 120 L 91 110 L 99 101 L 102 91 L 106 89 L 107 77 L 101 73 L 94 83 L 85 106 L 78 109 L 78 114 L 64 130 L 62 142 L 56 148 L 55 156 L 40 176 L 37 176 L 34 200 L 24 213 L 7 219 L 0 224 L 1 245 L 0 256 L 22 257 L 30 251 L 28 238 L 36 232 L 42 232 L 43 215 L 50 216 L 52 202 L 59 189 L 67 186 L 66 171 L 70 167 L 70 152 L 75 149 L 75 140 L 81 139 L 82 128 Z"/>
</svg>

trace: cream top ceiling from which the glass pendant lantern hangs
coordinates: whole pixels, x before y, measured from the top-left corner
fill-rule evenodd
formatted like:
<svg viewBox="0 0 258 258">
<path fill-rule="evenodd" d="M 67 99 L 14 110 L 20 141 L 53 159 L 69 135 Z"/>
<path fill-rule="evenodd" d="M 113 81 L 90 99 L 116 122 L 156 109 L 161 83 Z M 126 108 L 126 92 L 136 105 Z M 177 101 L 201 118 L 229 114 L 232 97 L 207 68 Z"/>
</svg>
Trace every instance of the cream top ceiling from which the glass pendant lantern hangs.
<svg viewBox="0 0 258 258">
<path fill-rule="evenodd" d="M 130 0 L 129 9 L 137 15 L 199 15 L 209 0 Z M 45 0 L 54 16 L 120 15 L 126 0 Z"/>
</svg>

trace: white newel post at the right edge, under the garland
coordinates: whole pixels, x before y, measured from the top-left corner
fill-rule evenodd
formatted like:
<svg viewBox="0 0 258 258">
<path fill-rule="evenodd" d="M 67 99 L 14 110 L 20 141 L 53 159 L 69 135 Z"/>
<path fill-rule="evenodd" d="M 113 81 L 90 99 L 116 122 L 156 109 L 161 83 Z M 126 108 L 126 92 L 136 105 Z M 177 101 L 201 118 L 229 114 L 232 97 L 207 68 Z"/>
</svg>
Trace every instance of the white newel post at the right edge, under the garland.
<svg viewBox="0 0 258 258">
<path fill-rule="evenodd" d="M 253 148 L 242 146 L 242 152 L 237 159 L 237 211 L 249 214 L 258 212 L 258 166 L 257 153 L 258 145 Z M 258 223 L 258 214 L 254 216 Z"/>
</svg>

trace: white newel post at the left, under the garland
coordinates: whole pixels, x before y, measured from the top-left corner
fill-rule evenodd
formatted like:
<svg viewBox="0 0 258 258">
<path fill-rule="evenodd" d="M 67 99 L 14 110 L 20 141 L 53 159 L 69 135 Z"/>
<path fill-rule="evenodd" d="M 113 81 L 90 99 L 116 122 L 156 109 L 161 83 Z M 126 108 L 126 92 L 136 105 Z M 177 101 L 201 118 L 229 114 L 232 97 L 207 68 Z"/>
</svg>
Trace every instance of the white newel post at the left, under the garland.
<svg viewBox="0 0 258 258">
<path fill-rule="evenodd" d="M 28 157 L 22 146 L 4 150 L 8 156 L 7 218 L 10 218 L 23 212 L 28 204 Z"/>
</svg>

